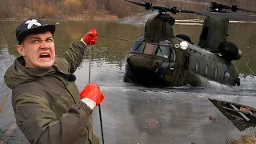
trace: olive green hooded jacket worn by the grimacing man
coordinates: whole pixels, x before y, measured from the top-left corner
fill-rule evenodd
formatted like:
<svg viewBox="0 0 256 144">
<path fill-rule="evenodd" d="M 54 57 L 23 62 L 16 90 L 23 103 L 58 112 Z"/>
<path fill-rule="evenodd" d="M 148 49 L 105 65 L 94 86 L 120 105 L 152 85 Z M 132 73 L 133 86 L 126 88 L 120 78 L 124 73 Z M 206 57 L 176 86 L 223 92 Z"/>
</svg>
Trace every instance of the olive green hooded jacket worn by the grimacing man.
<svg viewBox="0 0 256 144">
<path fill-rule="evenodd" d="M 48 70 L 26 68 L 23 57 L 6 70 L 16 123 L 30 143 L 99 143 L 89 118 L 93 110 L 74 84 L 85 49 L 81 41 L 72 44 Z"/>
</svg>

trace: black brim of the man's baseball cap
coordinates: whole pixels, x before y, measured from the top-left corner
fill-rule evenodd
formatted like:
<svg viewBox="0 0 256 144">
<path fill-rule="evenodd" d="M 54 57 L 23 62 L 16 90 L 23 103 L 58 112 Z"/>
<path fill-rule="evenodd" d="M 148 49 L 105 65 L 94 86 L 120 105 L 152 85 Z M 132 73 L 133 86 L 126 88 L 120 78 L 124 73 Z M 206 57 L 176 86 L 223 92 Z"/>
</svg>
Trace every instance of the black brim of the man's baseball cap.
<svg viewBox="0 0 256 144">
<path fill-rule="evenodd" d="M 18 44 L 22 42 L 24 38 L 26 38 L 27 35 L 33 34 L 35 30 L 45 30 L 50 31 L 51 34 L 54 34 L 55 32 L 55 25 L 42 25 L 37 27 L 32 27 L 28 30 L 24 30 L 21 33 L 18 34 Z"/>
</svg>

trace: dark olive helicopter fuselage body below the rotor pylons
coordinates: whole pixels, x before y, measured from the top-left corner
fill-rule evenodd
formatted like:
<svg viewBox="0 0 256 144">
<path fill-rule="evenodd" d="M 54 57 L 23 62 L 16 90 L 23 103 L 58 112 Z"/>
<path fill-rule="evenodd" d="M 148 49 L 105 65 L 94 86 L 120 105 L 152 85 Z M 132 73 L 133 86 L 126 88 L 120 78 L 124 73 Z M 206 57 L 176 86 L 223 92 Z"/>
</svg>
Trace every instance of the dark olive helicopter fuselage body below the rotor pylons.
<svg viewBox="0 0 256 144">
<path fill-rule="evenodd" d="M 127 58 L 125 82 L 214 89 L 235 86 L 238 70 L 232 62 L 189 42 L 182 50 L 180 42 L 184 40 L 176 37 L 159 43 L 138 38 Z"/>
</svg>

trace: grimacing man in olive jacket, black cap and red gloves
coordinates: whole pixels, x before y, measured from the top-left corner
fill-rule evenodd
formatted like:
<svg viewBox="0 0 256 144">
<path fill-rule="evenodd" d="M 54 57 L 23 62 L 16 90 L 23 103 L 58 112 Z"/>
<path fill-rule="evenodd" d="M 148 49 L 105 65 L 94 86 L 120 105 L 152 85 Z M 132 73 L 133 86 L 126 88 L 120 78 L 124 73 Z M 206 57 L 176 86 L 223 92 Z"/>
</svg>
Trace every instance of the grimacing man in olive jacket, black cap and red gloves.
<svg viewBox="0 0 256 144">
<path fill-rule="evenodd" d="M 16 48 L 22 56 L 4 76 L 13 90 L 16 123 L 30 143 L 99 143 L 89 116 L 104 97 L 96 84 L 79 93 L 73 74 L 98 34 L 91 30 L 55 58 L 54 31 L 54 25 L 36 19 L 16 29 Z"/>
</svg>

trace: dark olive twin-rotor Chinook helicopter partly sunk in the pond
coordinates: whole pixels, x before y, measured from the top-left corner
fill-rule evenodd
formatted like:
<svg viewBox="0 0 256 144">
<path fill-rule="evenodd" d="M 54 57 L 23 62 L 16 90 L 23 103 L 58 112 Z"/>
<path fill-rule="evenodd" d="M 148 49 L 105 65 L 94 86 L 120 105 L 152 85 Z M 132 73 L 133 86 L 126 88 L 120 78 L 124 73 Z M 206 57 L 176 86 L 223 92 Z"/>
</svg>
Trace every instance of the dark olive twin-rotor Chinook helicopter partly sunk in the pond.
<svg viewBox="0 0 256 144">
<path fill-rule="evenodd" d="M 146 21 L 144 34 L 136 39 L 126 59 L 124 82 L 154 86 L 198 86 L 210 89 L 232 90 L 240 86 L 237 68 L 232 61 L 242 57 L 234 42 L 226 40 L 229 18 L 256 19 L 255 16 L 230 14 L 238 6 L 210 3 L 210 12 L 179 10 L 152 6 L 150 2 L 124 0 L 146 10 L 157 11 L 154 18 Z M 198 44 L 188 35 L 174 36 L 175 19 L 170 14 L 190 13 L 206 16 Z"/>
</svg>

